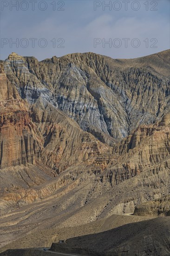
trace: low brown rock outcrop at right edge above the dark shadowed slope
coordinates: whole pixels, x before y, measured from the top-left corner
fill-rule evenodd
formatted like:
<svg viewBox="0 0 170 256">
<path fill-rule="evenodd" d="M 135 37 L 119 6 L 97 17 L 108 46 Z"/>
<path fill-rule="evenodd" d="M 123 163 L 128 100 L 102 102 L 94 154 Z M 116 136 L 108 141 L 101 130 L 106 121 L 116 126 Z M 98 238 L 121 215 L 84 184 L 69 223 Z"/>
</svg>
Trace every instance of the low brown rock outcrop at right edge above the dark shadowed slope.
<svg viewBox="0 0 170 256">
<path fill-rule="evenodd" d="M 170 195 L 137 205 L 134 215 L 170 216 Z"/>
</svg>

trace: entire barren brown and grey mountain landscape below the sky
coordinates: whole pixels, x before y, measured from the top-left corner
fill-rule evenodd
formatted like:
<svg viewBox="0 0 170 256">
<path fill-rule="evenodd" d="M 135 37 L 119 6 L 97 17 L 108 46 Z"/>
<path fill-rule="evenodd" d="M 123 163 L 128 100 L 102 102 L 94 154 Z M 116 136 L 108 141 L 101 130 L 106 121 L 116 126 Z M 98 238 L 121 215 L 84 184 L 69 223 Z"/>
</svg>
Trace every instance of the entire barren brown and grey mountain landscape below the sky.
<svg viewBox="0 0 170 256">
<path fill-rule="evenodd" d="M 0 61 L 0 195 L 0 255 L 169 256 L 170 50 Z"/>
</svg>

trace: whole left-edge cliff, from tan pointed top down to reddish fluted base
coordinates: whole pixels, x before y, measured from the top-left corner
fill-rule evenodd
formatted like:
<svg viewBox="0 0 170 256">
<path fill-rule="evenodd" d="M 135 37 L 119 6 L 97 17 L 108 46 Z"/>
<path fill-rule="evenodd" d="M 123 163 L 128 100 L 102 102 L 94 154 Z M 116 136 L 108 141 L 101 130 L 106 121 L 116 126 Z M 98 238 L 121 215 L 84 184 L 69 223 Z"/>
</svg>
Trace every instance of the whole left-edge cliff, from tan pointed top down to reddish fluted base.
<svg viewBox="0 0 170 256">
<path fill-rule="evenodd" d="M 27 111 L 28 103 L 10 84 L 2 66 L 0 71 L 0 168 L 36 164 L 39 138 Z"/>
</svg>

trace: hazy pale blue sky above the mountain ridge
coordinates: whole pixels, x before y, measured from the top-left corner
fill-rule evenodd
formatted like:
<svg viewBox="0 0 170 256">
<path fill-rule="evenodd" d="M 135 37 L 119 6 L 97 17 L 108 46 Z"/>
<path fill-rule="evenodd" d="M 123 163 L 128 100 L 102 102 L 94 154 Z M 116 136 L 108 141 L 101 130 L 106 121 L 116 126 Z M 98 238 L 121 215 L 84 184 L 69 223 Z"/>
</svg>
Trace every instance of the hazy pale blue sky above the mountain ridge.
<svg viewBox="0 0 170 256">
<path fill-rule="evenodd" d="M 95 52 L 112 58 L 136 58 L 170 48 L 170 0 L 36 0 L 34 10 L 31 0 L 19 0 L 19 10 L 10 6 L 10 2 L 1 0 L 1 60 L 6 59 L 11 52 L 35 56 L 39 61 L 75 52 Z M 15 0 L 12 2 L 13 5 L 17 4 Z M 56 10 L 53 10 L 54 2 Z M 103 2 L 105 5 L 111 2 L 110 10 Z M 95 6 L 99 6 L 96 11 Z M 45 7 L 44 11 L 39 10 Z M 59 11 L 57 8 L 64 10 Z M 22 40 L 24 38 L 26 40 Z M 30 38 L 37 39 L 34 48 Z M 46 41 L 39 41 L 42 38 Z M 95 38 L 98 39 L 96 47 Z M 129 39 L 127 47 L 123 40 L 125 38 Z M 18 47 L 12 44 L 16 40 L 19 41 Z M 41 46 L 46 42 L 47 46 L 40 47 L 38 41 Z M 105 44 L 107 41 L 110 45 Z M 27 47 L 23 47 L 26 43 Z M 120 47 L 117 47 L 118 44 Z M 137 44 L 140 46 L 135 47 Z M 63 47 L 59 48 L 59 45 Z"/>
</svg>

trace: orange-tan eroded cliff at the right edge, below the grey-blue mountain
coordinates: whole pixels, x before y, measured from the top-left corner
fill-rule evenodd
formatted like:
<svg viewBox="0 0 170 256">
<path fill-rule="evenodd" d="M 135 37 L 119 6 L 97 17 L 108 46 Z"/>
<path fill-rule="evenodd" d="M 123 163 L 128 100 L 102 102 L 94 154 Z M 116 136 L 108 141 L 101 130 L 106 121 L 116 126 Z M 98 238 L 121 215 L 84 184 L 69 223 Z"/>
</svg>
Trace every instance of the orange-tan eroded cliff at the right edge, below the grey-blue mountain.
<svg viewBox="0 0 170 256">
<path fill-rule="evenodd" d="M 156 171 L 163 162 L 168 170 L 170 168 L 170 112 L 154 125 L 139 126 L 132 135 L 113 147 L 112 154 L 118 161 L 115 164 L 116 158 L 113 157 L 107 168 L 109 168 L 111 182 L 114 183 L 118 182 L 116 174 L 126 174 L 126 178 L 130 178 L 151 168 Z"/>
</svg>

